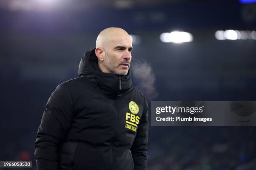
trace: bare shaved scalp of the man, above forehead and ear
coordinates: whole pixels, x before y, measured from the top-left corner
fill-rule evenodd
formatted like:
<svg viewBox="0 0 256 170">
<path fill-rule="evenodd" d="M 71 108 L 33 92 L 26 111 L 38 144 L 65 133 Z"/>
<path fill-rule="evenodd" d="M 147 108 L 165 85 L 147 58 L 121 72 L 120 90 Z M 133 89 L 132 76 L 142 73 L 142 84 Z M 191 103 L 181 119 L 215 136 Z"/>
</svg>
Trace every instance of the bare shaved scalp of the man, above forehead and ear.
<svg viewBox="0 0 256 170">
<path fill-rule="evenodd" d="M 122 28 L 110 27 L 102 30 L 96 40 L 96 48 L 107 48 L 109 43 L 116 41 L 117 39 L 131 39 L 129 34 Z"/>
</svg>

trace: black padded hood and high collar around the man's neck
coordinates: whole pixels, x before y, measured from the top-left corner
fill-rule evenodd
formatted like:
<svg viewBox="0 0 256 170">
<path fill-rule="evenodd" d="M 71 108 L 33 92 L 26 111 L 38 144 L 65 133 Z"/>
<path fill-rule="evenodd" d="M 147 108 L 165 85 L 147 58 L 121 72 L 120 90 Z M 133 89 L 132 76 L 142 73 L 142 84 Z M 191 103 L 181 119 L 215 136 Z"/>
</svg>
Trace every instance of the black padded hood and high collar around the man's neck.
<svg viewBox="0 0 256 170">
<path fill-rule="evenodd" d="M 98 59 L 95 55 L 95 48 L 85 52 L 81 58 L 79 77 L 87 77 L 95 86 L 100 87 L 105 95 L 117 96 L 131 88 L 131 73 L 128 70 L 127 75 L 116 75 L 105 73 L 98 67 Z"/>
</svg>

